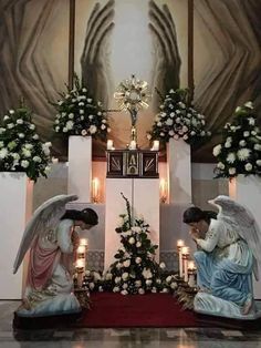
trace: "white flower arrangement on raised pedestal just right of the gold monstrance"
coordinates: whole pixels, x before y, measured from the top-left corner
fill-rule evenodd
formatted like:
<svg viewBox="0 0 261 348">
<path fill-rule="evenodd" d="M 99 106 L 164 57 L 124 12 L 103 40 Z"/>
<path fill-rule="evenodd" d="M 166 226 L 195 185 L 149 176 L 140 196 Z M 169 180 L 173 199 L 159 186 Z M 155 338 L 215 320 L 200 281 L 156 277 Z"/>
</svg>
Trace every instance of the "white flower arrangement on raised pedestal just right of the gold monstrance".
<svg viewBox="0 0 261 348">
<path fill-rule="evenodd" d="M 187 90 L 170 90 L 161 100 L 160 112 L 155 117 L 152 131 L 147 133 L 148 140 L 167 143 L 174 137 L 195 145 L 211 135 L 205 130 L 205 116 L 189 103 Z"/>
</svg>

